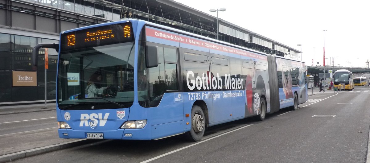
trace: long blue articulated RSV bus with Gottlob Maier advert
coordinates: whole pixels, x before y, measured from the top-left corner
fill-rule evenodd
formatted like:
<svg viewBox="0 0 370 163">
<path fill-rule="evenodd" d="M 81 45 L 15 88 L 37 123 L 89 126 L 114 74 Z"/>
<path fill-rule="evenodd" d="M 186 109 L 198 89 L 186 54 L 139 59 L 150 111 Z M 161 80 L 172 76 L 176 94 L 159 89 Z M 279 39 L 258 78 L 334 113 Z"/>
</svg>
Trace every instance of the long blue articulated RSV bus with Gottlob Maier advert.
<svg viewBox="0 0 370 163">
<path fill-rule="evenodd" d="M 60 138 L 152 140 L 265 119 L 307 96 L 305 63 L 142 20 L 61 32 Z"/>
</svg>

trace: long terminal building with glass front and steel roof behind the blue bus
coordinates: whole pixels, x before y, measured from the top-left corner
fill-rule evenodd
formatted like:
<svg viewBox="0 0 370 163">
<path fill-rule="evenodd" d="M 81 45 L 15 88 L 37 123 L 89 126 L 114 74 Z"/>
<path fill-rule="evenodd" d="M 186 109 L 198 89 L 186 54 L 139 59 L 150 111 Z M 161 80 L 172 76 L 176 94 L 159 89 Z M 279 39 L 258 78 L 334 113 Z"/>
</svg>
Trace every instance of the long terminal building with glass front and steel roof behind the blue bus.
<svg viewBox="0 0 370 163">
<path fill-rule="evenodd" d="M 206 11 L 209 12 L 209 11 Z M 301 54 L 268 37 L 174 0 L 0 0 L 0 104 L 55 101 L 58 54 L 45 50 L 38 66 L 31 52 L 39 43 L 58 43 L 62 31 L 104 22 L 139 19 L 218 38 L 260 52 L 300 60 Z M 219 32 L 217 32 L 217 30 Z M 19 77 L 27 76 L 27 77 Z M 27 82 L 20 82 L 27 80 Z"/>
</svg>

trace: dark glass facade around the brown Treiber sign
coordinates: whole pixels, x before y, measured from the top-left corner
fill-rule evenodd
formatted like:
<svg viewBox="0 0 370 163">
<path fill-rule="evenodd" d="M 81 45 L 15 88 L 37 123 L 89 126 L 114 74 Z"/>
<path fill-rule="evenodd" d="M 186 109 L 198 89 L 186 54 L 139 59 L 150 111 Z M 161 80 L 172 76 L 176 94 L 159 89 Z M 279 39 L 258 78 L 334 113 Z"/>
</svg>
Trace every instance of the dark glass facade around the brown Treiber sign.
<svg viewBox="0 0 370 163">
<path fill-rule="evenodd" d="M 27 37 L 0 33 L 0 103 L 12 101 L 44 100 L 45 93 L 45 50 L 40 49 L 38 65 L 31 65 L 31 53 L 39 43 L 58 43 L 58 40 Z M 48 51 L 47 100 L 55 100 L 55 81 L 58 54 L 54 49 Z M 14 72 L 37 72 L 37 86 L 16 86 Z"/>
</svg>

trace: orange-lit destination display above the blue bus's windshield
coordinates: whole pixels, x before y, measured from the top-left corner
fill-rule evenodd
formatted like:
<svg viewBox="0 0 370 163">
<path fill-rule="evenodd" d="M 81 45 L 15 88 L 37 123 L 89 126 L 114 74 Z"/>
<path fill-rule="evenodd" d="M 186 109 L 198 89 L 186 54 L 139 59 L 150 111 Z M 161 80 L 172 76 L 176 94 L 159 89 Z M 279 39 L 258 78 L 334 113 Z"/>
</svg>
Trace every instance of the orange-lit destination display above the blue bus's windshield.
<svg viewBox="0 0 370 163">
<path fill-rule="evenodd" d="M 73 50 L 132 41 L 131 23 L 112 24 L 62 34 L 61 48 Z"/>
</svg>

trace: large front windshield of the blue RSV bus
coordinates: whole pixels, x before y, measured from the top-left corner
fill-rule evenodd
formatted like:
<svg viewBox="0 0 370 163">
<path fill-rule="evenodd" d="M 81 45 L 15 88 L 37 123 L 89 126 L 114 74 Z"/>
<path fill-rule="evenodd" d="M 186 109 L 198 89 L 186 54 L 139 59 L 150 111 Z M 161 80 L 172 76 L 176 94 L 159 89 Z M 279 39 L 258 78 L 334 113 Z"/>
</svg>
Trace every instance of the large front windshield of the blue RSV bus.
<svg viewBox="0 0 370 163">
<path fill-rule="evenodd" d="M 125 42 L 71 51 L 61 49 L 60 109 L 130 107 L 134 101 L 134 45 L 134 42 Z"/>
</svg>

